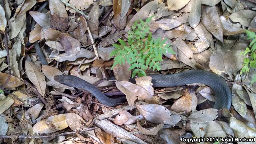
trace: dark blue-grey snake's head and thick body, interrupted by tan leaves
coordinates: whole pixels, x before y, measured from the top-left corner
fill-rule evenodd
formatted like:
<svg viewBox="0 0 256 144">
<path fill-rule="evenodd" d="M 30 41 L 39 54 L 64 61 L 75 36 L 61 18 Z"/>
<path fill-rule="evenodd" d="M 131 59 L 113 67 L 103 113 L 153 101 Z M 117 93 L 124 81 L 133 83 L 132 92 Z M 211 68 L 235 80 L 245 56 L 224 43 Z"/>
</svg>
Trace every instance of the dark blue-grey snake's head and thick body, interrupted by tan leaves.
<svg viewBox="0 0 256 144">
<path fill-rule="evenodd" d="M 230 108 L 231 92 L 228 84 L 218 75 L 204 70 L 188 70 L 185 72 L 171 75 L 149 75 L 152 77 L 153 87 L 173 87 L 184 84 L 200 83 L 212 88 L 215 93 L 216 100 L 214 108 Z M 124 97 L 116 99 L 109 98 L 100 92 L 92 84 L 80 79 L 76 76 L 58 75 L 54 76 L 54 80 L 70 87 L 82 88 L 94 95 L 100 103 L 107 106 L 116 106 L 118 103 L 124 102 Z"/>
</svg>

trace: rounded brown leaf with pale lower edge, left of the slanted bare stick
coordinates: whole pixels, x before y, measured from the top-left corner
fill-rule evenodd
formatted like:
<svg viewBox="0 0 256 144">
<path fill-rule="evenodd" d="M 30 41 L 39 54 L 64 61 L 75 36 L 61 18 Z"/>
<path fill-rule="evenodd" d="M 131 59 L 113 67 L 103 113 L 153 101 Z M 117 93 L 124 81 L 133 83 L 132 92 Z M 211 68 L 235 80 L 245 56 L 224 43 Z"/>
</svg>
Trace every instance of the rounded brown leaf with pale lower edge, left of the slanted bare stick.
<svg viewBox="0 0 256 144">
<path fill-rule="evenodd" d="M 64 52 L 66 52 L 68 55 L 75 56 L 80 52 L 80 42 L 71 37 L 68 33 L 60 34 L 57 40 L 60 41 Z"/>
</svg>

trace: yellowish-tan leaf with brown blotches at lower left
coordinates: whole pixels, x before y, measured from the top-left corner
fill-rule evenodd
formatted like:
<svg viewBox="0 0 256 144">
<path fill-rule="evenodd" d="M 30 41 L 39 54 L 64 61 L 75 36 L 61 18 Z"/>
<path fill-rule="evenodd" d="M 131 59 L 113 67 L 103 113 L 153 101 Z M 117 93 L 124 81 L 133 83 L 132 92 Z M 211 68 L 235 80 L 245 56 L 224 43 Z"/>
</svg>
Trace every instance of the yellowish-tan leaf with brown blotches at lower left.
<svg viewBox="0 0 256 144">
<path fill-rule="evenodd" d="M 66 114 L 50 116 L 45 120 L 36 123 L 33 127 L 33 132 L 37 133 L 52 133 L 63 130 L 68 127 L 66 122 Z"/>
</svg>

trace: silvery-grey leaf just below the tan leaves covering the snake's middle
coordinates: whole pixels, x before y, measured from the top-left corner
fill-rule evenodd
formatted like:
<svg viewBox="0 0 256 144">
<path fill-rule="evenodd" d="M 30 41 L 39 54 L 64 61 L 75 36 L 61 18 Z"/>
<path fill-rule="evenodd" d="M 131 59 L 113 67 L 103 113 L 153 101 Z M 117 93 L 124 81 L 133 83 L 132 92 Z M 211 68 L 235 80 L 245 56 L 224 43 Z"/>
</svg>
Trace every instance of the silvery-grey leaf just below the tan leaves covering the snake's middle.
<svg viewBox="0 0 256 144">
<path fill-rule="evenodd" d="M 149 122 L 154 124 L 170 124 L 174 125 L 180 122 L 181 117 L 172 115 L 164 106 L 157 104 L 137 105 L 140 114 Z"/>
</svg>

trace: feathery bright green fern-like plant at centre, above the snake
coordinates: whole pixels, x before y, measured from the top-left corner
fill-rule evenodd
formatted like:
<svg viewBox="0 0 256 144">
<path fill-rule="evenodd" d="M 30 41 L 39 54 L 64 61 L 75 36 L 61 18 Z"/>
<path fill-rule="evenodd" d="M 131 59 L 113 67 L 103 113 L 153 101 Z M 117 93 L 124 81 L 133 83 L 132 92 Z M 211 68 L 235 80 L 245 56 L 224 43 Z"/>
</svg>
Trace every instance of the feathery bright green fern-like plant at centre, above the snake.
<svg viewBox="0 0 256 144">
<path fill-rule="evenodd" d="M 135 75 L 145 76 L 147 68 L 160 70 L 159 61 L 163 61 L 163 53 L 173 53 L 170 44 L 165 44 L 167 39 L 161 40 L 152 38 L 152 33 L 148 24 L 154 16 L 150 16 L 146 21 L 135 21 L 131 26 L 132 31 L 128 31 L 127 43 L 118 39 L 119 44 L 113 44 L 116 48 L 110 53 L 110 57 L 115 56 L 112 68 L 117 64 L 130 64 L 129 70 L 133 69 L 132 77 Z"/>
</svg>

